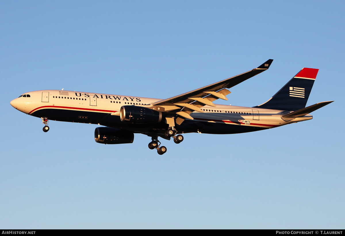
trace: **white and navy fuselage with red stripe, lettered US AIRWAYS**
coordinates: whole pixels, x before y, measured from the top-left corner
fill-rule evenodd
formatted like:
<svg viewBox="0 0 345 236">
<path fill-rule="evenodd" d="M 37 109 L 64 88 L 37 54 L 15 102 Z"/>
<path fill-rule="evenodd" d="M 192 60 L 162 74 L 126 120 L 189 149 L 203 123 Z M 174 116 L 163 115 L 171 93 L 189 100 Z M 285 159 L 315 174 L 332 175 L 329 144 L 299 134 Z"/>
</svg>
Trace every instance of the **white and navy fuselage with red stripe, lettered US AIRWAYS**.
<svg viewBox="0 0 345 236">
<path fill-rule="evenodd" d="M 40 90 L 23 95 L 12 100 L 11 105 L 28 115 L 47 117 L 49 120 L 106 126 L 109 126 L 109 123 L 114 123 L 110 126 L 118 128 L 121 128 L 122 124 L 124 124 L 119 120 L 118 115 L 115 114 L 115 112 L 120 110 L 121 106 L 141 106 L 158 111 L 168 110 L 166 106 L 152 106 L 152 103 L 160 100 L 155 98 L 65 90 Z M 181 124 L 179 132 L 240 133 L 274 128 L 293 122 L 312 119 L 311 115 L 306 115 L 286 121 L 281 116 L 282 114 L 287 114 L 289 111 L 217 104 L 216 107 L 204 106 L 201 110 L 204 112 L 191 113 L 190 116 L 194 120 L 186 119 Z M 105 117 L 107 118 L 104 119 Z M 105 124 L 102 124 L 103 121 Z M 195 124 L 196 128 L 186 128 L 186 130 L 183 130 L 183 127 L 187 124 Z M 249 127 L 256 129 L 251 130 L 248 129 Z M 138 128 L 138 132 L 143 132 L 140 127 Z M 135 127 L 131 129 L 135 131 Z"/>
</svg>

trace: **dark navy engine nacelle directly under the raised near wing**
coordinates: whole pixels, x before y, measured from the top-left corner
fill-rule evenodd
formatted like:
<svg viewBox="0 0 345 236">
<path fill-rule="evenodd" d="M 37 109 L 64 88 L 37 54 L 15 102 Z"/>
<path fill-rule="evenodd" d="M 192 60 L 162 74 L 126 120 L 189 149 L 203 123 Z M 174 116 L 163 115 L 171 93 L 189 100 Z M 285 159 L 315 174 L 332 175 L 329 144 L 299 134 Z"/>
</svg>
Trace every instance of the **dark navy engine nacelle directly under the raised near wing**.
<svg viewBox="0 0 345 236">
<path fill-rule="evenodd" d="M 146 107 L 122 106 L 120 119 L 134 124 L 159 123 L 162 120 L 162 112 Z"/>
</svg>

